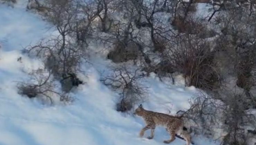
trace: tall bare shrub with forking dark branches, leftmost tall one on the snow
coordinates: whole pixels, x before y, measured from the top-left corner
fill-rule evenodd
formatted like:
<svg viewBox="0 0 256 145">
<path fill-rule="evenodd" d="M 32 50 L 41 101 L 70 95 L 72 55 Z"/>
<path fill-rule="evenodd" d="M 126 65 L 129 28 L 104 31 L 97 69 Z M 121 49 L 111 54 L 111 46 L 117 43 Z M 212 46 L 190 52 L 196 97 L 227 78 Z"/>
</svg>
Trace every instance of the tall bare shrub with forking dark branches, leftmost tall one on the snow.
<svg viewBox="0 0 256 145">
<path fill-rule="evenodd" d="M 79 31 L 78 25 L 82 25 L 80 19 L 84 18 L 79 17 L 80 19 L 78 19 L 77 15 L 80 13 L 78 9 L 84 8 L 84 5 L 76 2 L 73 0 L 46 0 L 47 13 L 44 13 L 43 16 L 56 26 L 59 35 L 50 37 L 48 40 L 41 40 L 37 45 L 25 48 L 29 55 L 43 60 L 45 67 L 51 70 L 57 80 L 61 81 L 62 89 L 65 92 L 70 91 L 73 86 L 82 84 L 81 80 L 74 83 L 74 80 L 78 79 L 75 74 L 80 71 L 80 65 L 86 61 L 87 57 L 86 47 L 72 38 Z M 86 29 L 88 27 L 86 24 Z M 85 39 L 83 42 L 86 43 Z"/>
</svg>

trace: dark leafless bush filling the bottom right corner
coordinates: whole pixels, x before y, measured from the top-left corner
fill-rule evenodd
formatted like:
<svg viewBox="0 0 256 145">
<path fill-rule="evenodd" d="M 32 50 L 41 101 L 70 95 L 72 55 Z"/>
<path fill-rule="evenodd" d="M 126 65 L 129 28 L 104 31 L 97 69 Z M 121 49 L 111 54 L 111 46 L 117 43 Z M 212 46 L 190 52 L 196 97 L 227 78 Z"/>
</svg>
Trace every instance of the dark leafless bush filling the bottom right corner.
<svg viewBox="0 0 256 145">
<path fill-rule="evenodd" d="M 253 136 L 248 133 L 246 126 L 255 129 L 256 116 L 248 110 L 248 100 L 243 94 L 228 94 L 224 101 L 227 107 L 223 111 L 223 129 L 227 134 L 223 137 L 223 144 L 249 144 L 249 138 Z"/>
</svg>

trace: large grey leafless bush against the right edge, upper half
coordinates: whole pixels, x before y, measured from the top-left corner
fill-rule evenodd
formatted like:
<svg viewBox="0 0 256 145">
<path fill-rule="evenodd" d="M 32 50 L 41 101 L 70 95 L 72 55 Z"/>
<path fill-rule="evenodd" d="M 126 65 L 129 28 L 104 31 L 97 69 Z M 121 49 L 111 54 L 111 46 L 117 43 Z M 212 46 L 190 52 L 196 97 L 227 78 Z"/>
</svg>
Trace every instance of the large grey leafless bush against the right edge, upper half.
<svg viewBox="0 0 256 145">
<path fill-rule="evenodd" d="M 249 4 L 249 3 L 248 3 Z M 219 23 L 222 24 L 222 34 L 217 42 L 218 51 L 227 54 L 230 74 L 237 77 L 237 86 L 244 89 L 247 97 L 252 97 L 252 88 L 255 85 L 253 75 L 255 69 L 255 7 L 240 4 L 236 9 L 229 9 L 219 14 Z M 249 7 L 249 8 L 248 8 Z M 221 17 L 225 16 L 225 18 Z M 249 28 L 249 29 L 248 29 Z"/>
</svg>

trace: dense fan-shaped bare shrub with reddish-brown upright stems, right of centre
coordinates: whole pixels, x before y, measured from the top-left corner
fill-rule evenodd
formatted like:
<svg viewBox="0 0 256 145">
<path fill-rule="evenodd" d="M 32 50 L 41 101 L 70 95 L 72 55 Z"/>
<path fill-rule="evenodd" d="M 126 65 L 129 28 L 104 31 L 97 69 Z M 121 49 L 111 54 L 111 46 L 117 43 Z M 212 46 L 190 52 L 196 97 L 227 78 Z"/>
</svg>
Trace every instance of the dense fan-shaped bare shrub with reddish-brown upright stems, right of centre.
<svg viewBox="0 0 256 145">
<path fill-rule="evenodd" d="M 219 87 L 221 78 L 214 64 L 215 52 L 210 43 L 196 35 L 181 35 L 178 47 L 168 48 L 164 56 L 172 67 L 182 73 L 186 86 L 213 90 Z"/>
</svg>

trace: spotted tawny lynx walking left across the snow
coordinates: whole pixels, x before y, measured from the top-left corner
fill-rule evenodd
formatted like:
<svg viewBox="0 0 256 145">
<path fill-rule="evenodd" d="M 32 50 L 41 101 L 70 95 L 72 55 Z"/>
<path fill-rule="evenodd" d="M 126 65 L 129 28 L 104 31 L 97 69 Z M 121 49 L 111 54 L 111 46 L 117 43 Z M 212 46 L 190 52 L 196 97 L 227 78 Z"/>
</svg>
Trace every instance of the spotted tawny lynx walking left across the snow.
<svg viewBox="0 0 256 145">
<path fill-rule="evenodd" d="M 151 135 L 147 138 L 152 139 L 154 137 L 156 125 L 161 125 L 166 127 L 167 132 L 171 135 L 171 139 L 164 141 L 164 143 L 168 144 L 174 141 L 175 134 L 177 134 L 186 140 L 186 145 L 190 145 L 191 136 L 187 129 L 183 126 L 183 120 L 181 117 L 149 111 L 144 109 L 141 104 L 135 110 L 134 114 L 141 116 L 146 123 L 146 126 L 140 131 L 140 137 L 143 137 L 144 132 L 147 129 L 151 129 Z"/>
</svg>

